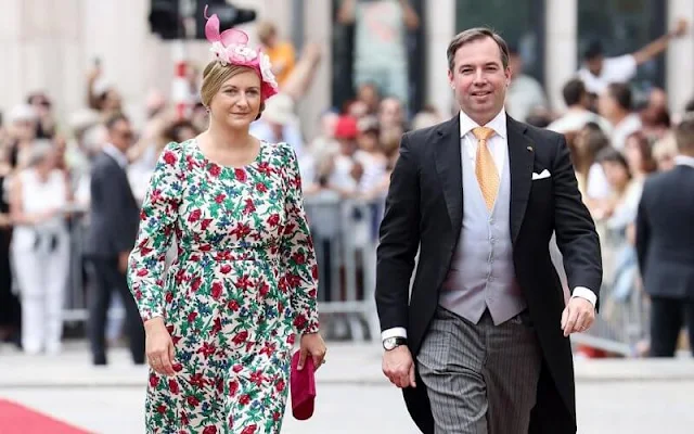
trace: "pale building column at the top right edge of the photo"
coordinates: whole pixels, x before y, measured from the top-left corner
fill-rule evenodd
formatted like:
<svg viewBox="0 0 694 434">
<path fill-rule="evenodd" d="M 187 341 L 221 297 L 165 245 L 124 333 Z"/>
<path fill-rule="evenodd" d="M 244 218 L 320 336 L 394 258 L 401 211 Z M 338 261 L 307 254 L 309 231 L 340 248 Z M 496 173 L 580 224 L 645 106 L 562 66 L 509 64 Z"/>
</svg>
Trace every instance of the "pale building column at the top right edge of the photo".
<svg viewBox="0 0 694 434">
<path fill-rule="evenodd" d="M 681 113 L 684 105 L 694 98 L 694 3 L 691 0 L 669 0 L 667 29 L 672 28 L 678 18 L 689 22 L 689 33 L 670 42 L 666 53 L 666 91 L 669 108 Z"/>
</svg>

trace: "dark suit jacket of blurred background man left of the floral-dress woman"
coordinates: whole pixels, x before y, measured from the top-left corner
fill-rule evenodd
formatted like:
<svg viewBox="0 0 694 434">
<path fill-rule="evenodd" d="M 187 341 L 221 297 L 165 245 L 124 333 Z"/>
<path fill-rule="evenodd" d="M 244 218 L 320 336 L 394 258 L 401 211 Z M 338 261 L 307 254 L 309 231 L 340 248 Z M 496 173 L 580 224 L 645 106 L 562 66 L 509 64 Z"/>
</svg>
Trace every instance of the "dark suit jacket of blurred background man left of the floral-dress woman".
<svg viewBox="0 0 694 434">
<path fill-rule="evenodd" d="M 123 252 L 130 252 L 138 233 L 140 208 L 126 171 L 104 152 L 92 162 L 90 190 L 85 254 L 113 258 Z"/>
</svg>

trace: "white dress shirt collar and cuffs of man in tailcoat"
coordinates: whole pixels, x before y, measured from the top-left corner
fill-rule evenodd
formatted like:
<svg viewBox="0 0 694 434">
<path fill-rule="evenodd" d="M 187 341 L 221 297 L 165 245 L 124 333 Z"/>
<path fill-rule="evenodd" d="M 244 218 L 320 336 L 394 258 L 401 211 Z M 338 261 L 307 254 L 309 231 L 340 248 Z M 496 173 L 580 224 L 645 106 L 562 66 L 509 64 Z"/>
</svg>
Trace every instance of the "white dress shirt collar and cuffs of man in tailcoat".
<svg viewBox="0 0 694 434">
<path fill-rule="evenodd" d="M 494 130 L 494 135 L 487 140 L 487 146 L 489 146 L 489 152 L 494 161 L 494 165 L 497 166 L 497 173 L 501 174 L 503 169 L 503 165 L 507 164 L 507 153 L 509 153 L 509 137 L 506 135 L 506 112 L 502 110 L 499 114 L 491 119 L 487 125 L 488 128 Z M 473 128 L 477 128 L 476 122 L 470 118 L 463 111 L 460 112 L 460 137 L 461 137 L 461 157 L 470 158 L 472 165 L 475 166 L 475 162 L 477 159 L 477 138 L 473 133 Z M 461 161 L 462 164 L 462 161 Z M 597 296 L 594 292 L 584 286 L 576 286 L 574 289 L 574 293 L 571 298 L 581 297 L 588 299 L 593 307 L 597 301 Z M 558 324 L 557 324 L 558 327 Z M 396 327 L 393 329 L 384 330 L 381 333 L 381 337 L 386 340 L 388 337 L 407 337 L 407 330 L 402 327 Z"/>
</svg>

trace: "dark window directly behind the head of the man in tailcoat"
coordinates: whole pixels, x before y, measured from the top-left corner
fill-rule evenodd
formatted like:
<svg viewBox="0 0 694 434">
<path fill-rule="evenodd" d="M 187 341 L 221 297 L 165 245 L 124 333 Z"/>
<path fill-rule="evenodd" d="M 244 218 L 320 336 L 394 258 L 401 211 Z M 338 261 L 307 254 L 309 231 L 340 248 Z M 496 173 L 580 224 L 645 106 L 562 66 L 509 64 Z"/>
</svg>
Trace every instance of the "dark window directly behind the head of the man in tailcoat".
<svg viewBox="0 0 694 434">
<path fill-rule="evenodd" d="M 583 0 L 580 0 L 583 1 Z M 455 33 L 488 26 L 515 47 L 524 73 L 544 82 L 544 0 L 457 0 Z"/>
</svg>

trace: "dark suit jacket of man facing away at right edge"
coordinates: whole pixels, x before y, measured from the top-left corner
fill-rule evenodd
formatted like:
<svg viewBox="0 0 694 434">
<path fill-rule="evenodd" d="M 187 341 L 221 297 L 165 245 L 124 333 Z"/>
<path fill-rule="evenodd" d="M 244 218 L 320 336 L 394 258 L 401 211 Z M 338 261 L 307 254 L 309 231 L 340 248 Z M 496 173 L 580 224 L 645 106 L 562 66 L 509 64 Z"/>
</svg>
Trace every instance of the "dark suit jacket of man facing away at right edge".
<svg viewBox="0 0 694 434">
<path fill-rule="evenodd" d="M 648 178 L 637 217 L 637 253 L 651 296 L 694 301 L 694 167 Z"/>
</svg>

